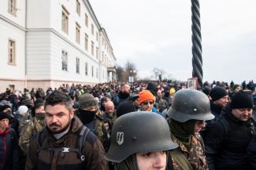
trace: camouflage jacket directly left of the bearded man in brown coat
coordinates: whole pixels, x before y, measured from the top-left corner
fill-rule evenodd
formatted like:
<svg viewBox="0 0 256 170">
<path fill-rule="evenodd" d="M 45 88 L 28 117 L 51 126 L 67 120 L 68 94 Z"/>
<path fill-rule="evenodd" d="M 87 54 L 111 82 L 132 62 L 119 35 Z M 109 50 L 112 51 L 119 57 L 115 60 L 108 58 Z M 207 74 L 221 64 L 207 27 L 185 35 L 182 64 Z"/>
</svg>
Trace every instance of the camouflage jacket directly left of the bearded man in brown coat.
<svg viewBox="0 0 256 170">
<path fill-rule="evenodd" d="M 24 154 L 28 154 L 28 147 L 32 136 L 43 129 L 45 125 L 44 120 L 41 121 L 35 117 L 22 128 L 22 131 L 20 132 L 19 146 L 21 150 L 24 151 Z"/>
</svg>

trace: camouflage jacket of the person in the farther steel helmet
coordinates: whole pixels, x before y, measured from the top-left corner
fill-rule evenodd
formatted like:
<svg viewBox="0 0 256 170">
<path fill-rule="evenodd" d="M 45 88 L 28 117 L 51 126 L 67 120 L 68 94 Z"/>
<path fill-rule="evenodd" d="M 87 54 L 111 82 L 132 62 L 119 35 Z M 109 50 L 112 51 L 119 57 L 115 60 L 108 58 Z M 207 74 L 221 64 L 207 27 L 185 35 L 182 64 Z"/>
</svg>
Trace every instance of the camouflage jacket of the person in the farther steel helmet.
<svg viewBox="0 0 256 170">
<path fill-rule="evenodd" d="M 174 143 L 177 143 L 179 145 L 180 152 L 184 154 L 185 157 L 187 157 L 187 161 L 190 163 L 193 170 L 208 170 L 208 165 L 206 162 L 206 156 L 205 152 L 202 146 L 203 143 L 200 142 L 200 136 L 197 134 L 193 136 L 191 139 L 191 149 L 187 150 L 186 146 L 184 146 L 183 143 L 181 143 L 178 139 L 176 139 L 175 136 L 172 135 L 172 139 Z M 181 166 L 178 164 L 178 162 L 173 159 L 173 168 L 174 170 L 184 170 L 181 168 Z"/>
</svg>

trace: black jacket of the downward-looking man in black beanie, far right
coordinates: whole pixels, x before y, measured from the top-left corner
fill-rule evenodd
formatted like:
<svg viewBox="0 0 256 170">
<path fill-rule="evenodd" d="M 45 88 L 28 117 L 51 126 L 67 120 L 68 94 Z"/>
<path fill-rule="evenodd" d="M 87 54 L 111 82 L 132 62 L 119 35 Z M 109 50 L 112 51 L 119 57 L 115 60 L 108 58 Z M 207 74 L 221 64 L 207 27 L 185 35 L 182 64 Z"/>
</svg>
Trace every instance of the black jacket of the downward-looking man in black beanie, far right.
<svg viewBox="0 0 256 170">
<path fill-rule="evenodd" d="M 239 121 L 228 104 L 221 118 L 208 127 L 204 143 L 210 170 L 244 170 L 248 166 L 247 146 L 251 128 L 247 122 Z"/>
</svg>

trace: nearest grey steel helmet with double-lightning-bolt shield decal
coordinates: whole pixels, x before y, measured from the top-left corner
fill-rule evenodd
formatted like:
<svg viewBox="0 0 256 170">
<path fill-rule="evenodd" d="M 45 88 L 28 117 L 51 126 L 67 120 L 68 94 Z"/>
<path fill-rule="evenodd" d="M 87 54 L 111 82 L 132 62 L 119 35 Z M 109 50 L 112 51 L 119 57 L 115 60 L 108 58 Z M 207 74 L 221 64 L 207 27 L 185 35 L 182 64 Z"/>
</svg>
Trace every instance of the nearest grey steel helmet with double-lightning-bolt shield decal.
<svg viewBox="0 0 256 170">
<path fill-rule="evenodd" d="M 142 111 L 117 118 L 113 124 L 107 161 L 120 163 L 132 154 L 173 150 L 169 125 L 160 114 Z"/>
</svg>

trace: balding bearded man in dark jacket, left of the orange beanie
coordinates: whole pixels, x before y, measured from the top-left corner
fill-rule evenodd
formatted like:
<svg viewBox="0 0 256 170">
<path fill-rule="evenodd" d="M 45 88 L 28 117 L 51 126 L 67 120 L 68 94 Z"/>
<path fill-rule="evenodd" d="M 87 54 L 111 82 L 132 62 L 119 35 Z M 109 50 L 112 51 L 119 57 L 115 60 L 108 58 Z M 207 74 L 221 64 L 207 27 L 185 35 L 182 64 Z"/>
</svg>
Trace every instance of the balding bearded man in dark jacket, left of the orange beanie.
<svg viewBox="0 0 256 170">
<path fill-rule="evenodd" d="M 113 99 L 113 103 L 115 107 L 124 101 L 128 101 L 130 99 L 130 85 L 128 83 L 124 83 L 121 85 L 120 92 L 118 92 L 115 99 Z"/>
</svg>

